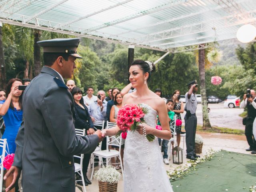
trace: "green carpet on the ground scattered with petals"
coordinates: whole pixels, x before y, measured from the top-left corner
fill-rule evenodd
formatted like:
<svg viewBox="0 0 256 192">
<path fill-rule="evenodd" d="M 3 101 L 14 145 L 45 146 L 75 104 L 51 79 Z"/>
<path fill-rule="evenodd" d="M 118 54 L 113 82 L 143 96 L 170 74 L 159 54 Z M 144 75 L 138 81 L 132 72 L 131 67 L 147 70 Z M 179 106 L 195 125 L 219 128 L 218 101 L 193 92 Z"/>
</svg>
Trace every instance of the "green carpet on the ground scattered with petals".
<svg viewBox="0 0 256 192">
<path fill-rule="evenodd" d="M 256 156 L 223 150 L 171 184 L 174 192 L 248 192 L 255 182 Z"/>
</svg>

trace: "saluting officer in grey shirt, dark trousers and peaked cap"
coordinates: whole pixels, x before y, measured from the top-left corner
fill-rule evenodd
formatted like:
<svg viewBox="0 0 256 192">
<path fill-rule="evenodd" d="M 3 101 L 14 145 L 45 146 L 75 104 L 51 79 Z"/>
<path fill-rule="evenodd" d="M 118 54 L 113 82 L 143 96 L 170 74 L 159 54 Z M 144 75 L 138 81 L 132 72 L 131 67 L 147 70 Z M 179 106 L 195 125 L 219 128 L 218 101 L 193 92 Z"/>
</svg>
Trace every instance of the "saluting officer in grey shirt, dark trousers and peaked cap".
<svg viewBox="0 0 256 192">
<path fill-rule="evenodd" d="M 198 91 L 198 84 L 196 80 L 187 84 L 189 90 L 185 94 L 186 105 L 185 111 L 186 115 L 185 119 L 185 130 L 186 130 L 186 147 L 187 147 L 187 158 L 191 160 L 196 160 L 196 158 L 200 157 L 195 154 L 195 136 L 196 136 L 196 108 L 197 108 L 197 100 L 196 100 L 196 92 Z"/>
</svg>

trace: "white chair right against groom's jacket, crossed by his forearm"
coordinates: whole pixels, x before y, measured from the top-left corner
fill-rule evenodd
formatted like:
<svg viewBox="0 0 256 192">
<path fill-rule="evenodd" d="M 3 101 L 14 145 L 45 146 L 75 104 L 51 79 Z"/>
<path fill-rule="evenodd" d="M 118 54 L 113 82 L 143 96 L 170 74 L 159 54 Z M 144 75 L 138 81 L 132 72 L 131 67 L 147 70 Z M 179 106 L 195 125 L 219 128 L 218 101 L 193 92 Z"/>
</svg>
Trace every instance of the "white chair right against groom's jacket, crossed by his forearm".
<svg viewBox="0 0 256 192">
<path fill-rule="evenodd" d="M 85 129 L 76 129 L 76 135 L 78 136 L 85 136 Z M 80 160 L 80 163 L 75 163 L 75 173 L 78 173 L 82 179 L 78 179 L 77 181 L 81 181 L 83 183 L 83 192 L 86 192 L 85 188 L 85 182 L 84 182 L 84 174 L 83 174 L 83 159 L 84 159 L 84 154 L 81 154 L 80 156 L 74 155 L 74 158 L 77 158 Z"/>
</svg>

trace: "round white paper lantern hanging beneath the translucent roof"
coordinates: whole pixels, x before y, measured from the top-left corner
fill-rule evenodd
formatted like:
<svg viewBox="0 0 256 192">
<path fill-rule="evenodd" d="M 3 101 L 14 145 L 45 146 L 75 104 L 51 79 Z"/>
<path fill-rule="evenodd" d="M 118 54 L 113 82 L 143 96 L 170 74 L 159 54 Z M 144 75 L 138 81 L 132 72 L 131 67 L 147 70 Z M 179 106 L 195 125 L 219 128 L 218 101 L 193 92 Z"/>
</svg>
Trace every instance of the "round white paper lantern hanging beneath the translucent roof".
<svg viewBox="0 0 256 192">
<path fill-rule="evenodd" d="M 256 36 L 256 27 L 246 24 L 240 27 L 236 32 L 236 38 L 242 43 L 248 43 L 254 40 Z"/>
</svg>

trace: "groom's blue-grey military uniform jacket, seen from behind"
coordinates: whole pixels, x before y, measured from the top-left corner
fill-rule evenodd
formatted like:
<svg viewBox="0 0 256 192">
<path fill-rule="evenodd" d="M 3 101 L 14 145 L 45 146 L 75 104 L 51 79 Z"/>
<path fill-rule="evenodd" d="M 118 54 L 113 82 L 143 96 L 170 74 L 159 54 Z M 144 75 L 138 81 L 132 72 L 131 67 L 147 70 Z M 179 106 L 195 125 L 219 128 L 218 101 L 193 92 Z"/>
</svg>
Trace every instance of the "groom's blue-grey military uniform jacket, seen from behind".
<svg viewBox="0 0 256 192">
<path fill-rule="evenodd" d="M 13 164 L 22 168 L 23 192 L 75 192 L 73 155 L 92 153 L 98 136 L 76 136 L 73 113 L 68 88 L 44 66 L 23 95 Z"/>
</svg>

